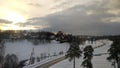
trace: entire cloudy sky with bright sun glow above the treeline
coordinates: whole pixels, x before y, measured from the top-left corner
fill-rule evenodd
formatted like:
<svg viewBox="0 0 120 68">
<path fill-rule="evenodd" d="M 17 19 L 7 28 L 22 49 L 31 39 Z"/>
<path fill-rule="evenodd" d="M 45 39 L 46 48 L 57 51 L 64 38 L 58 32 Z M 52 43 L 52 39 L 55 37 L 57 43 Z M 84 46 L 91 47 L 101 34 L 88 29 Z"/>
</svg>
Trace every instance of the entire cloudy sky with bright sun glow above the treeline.
<svg viewBox="0 0 120 68">
<path fill-rule="evenodd" d="M 120 0 L 0 0 L 0 29 L 120 34 Z"/>
</svg>

